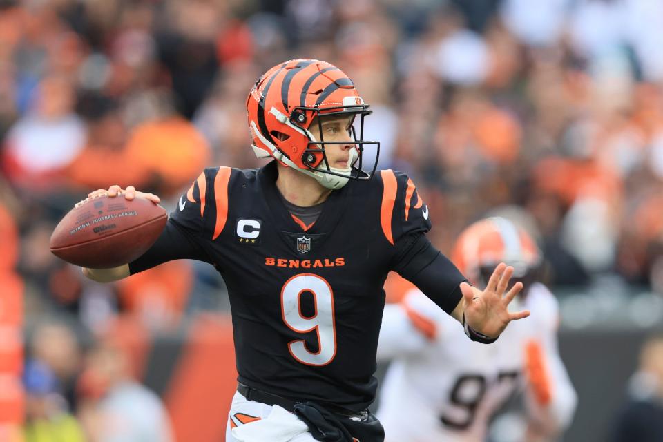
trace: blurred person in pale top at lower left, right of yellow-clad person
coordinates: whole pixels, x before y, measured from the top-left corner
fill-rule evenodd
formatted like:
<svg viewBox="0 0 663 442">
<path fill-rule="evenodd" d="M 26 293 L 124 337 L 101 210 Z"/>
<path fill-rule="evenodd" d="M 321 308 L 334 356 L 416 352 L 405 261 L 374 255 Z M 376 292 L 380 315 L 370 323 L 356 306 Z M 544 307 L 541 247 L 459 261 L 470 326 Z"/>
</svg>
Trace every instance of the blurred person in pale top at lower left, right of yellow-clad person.
<svg viewBox="0 0 663 442">
<path fill-rule="evenodd" d="M 90 350 L 78 391 L 79 416 L 92 442 L 170 442 L 171 425 L 160 398 L 131 378 L 128 356 L 102 340 Z"/>
</svg>

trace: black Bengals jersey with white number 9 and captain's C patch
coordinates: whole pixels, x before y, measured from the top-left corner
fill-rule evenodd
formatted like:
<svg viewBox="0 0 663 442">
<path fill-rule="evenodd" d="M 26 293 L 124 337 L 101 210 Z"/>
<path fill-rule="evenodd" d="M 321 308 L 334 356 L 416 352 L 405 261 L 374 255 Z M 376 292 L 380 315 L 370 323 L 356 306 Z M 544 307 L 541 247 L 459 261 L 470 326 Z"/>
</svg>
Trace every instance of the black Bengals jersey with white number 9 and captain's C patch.
<svg viewBox="0 0 663 442">
<path fill-rule="evenodd" d="M 376 392 L 376 348 L 387 273 L 431 227 L 402 173 L 379 171 L 332 191 L 314 224 L 286 209 L 276 163 L 206 169 L 179 201 L 162 238 L 131 272 L 159 260 L 210 262 L 226 282 L 238 381 L 287 398 L 361 410 Z M 184 237 L 186 253 L 164 252 Z M 164 254 L 165 253 L 165 254 Z M 151 262 L 151 264 L 145 264 Z M 452 276 L 451 285 L 463 277 Z M 459 295 L 443 305 L 448 312 Z"/>
</svg>

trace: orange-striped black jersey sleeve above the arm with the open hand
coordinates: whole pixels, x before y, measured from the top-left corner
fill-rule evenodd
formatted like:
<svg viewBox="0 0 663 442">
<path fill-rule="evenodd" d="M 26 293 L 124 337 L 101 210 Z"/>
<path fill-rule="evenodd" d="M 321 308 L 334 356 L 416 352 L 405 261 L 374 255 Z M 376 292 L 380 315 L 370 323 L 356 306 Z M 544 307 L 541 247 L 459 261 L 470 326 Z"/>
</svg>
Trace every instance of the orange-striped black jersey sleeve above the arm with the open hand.
<svg viewBox="0 0 663 442">
<path fill-rule="evenodd" d="M 382 231 L 392 245 L 402 238 L 426 233 L 431 224 L 414 182 L 405 173 L 380 171 L 383 195 L 380 213 Z"/>
</svg>

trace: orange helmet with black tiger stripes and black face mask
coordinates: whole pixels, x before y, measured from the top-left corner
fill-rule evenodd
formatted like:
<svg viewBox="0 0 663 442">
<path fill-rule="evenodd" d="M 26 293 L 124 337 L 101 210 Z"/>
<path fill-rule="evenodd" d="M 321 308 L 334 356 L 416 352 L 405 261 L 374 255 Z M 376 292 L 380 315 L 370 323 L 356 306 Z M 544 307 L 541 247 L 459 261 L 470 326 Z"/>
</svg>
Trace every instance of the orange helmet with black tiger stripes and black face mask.
<svg viewBox="0 0 663 442">
<path fill-rule="evenodd" d="M 247 111 L 253 151 L 259 158 L 273 157 L 327 189 L 340 189 L 349 179 L 368 180 L 375 172 L 380 143 L 363 140 L 364 117 L 372 111 L 352 80 L 326 61 L 294 59 L 267 70 L 249 93 Z M 338 115 L 349 115 L 353 122 L 354 148 L 346 169 L 331 167 L 325 155 L 325 145 L 341 142 L 325 142 L 322 136 L 321 120 Z M 321 140 L 309 130 L 316 117 Z M 366 144 L 378 149 L 367 171 L 362 169 Z"/>
</svg>

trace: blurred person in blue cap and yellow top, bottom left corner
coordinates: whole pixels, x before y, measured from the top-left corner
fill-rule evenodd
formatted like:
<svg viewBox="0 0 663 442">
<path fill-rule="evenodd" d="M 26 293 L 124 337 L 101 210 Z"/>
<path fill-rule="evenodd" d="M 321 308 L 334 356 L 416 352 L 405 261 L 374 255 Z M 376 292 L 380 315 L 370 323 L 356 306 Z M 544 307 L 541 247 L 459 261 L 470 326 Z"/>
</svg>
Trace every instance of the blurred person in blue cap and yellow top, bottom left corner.
<svg viewBox="0 0 663 442">
<path fill-rule="evenodd" d="M 77 420 L 68 412 L 58 381 L 48 365 L 28 361 L 23 374 L 26 391 L 25 442 L 83 442 Z"/>
</svg>

